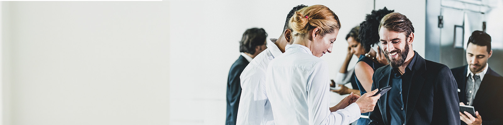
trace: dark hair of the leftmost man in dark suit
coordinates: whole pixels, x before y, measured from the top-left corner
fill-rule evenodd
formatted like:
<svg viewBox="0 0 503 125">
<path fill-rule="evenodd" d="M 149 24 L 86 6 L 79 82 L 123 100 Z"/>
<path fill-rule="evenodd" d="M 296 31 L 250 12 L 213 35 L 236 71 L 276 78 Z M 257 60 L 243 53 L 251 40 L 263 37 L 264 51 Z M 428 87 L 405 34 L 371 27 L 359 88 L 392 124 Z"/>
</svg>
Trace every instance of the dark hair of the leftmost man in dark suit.
<svg viewBox="0 0 503 125">
<path fill-rule="evenodd" d="M 266 38 L 267 33 L 264 28 L 246 29 L 243 33 L 241 41 L 239 41 L 239 52 L 254 54 L 255 47 L 265 44 Z"/>
</svg>

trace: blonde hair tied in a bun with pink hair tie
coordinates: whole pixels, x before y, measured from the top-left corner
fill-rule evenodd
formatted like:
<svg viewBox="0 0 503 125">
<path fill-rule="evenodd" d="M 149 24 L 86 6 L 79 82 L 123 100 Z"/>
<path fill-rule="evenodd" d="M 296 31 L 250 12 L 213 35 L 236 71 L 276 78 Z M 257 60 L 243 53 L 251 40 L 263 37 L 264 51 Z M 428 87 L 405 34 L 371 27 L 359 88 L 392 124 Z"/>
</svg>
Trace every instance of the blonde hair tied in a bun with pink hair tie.
<svg viewBox="0 0 503 125">
<path fill-rule="evenodd" d="M 341 28 L 341 22 L 336 13 L 324 5 L 312 5 L 304 7 L 295 12 L 290 18 L 290 27 L 293 36 L 304 37 L 311 29 L 321 28 L 320 34 L 333 33 L 334 29 Z"/>
</svg>

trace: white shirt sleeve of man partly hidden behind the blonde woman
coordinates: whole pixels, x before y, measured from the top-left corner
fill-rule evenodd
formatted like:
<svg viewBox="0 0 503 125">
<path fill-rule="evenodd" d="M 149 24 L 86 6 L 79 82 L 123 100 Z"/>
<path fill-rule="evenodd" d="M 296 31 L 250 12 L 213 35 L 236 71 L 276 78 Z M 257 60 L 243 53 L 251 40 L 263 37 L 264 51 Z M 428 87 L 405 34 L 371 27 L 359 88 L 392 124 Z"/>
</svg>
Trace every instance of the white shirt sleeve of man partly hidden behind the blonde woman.
<svg viewBox="0 0 503 125">
<path fill-rule="evenodd" d="M 241 97 L 237 109 L 236 124 L 261 124 L 264 118 L 266 73 L 254 65 L 248 65 L 240 76 Z"/>
</svg>

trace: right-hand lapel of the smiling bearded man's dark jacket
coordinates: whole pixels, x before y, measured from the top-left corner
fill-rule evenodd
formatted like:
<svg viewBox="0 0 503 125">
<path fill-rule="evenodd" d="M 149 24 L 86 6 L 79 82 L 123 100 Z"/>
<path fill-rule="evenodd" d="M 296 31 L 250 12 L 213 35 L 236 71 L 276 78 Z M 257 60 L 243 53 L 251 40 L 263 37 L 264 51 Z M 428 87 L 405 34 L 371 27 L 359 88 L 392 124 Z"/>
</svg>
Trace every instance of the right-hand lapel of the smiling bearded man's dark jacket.
<svg viewBox="0 0 503 125">
<path fill-rule="evenodd" d="M 425 59 L 421 57 L 419 54 L 416 54 L 416 60 L 414 65 L 412 66 L 412 78 L 409 84 L 409 90 L 407 95 L 407 105 L 405 105 L 405 123 L 407 124 L 410 115 L 412 114 L 412 110 L 414 110 L 414 106 L 417 102 L 417 98 L 423 88 L 423 84 L 425 82 L 426 74 L 423 74 L 426 71 L 426 63 Z"/>
</svg>

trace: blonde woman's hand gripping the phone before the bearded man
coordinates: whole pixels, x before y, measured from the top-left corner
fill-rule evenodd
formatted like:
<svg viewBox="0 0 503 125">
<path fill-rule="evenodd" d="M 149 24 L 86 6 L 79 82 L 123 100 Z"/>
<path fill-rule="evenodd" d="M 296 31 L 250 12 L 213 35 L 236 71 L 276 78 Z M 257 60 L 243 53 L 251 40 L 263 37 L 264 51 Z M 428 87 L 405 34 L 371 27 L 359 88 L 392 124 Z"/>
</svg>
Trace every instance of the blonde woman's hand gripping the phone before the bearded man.
<svg viewBox="0 0 503 125">
<path fill-rule="evenodd" d="M 379 89 L 375 89 L 373 91 L 367 92 L 363 94 L 360 98 L 356 100 L 356 103 L 360 107 L 361 113 L 366 113 L 369 111 L 373 111 L 376 106 L 377 99 L 381 97 L 381 94 L 374 95 Z"/>
</svg>

